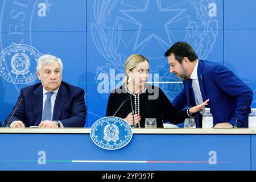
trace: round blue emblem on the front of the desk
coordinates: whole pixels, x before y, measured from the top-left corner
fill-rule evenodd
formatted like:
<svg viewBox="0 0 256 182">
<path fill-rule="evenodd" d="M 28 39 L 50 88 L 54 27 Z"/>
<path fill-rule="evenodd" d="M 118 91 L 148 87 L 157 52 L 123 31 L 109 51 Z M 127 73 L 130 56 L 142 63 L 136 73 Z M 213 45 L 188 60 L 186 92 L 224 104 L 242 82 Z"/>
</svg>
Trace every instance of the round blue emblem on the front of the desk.
<svg viewBox="0 0 256 182">
<path fill-rule="evenodd" d="M 131 126 L 118 117 L 98 119 L 90 130 L 90 138 L 98 147 L 117 150 L 125 147 L 133 137 Z"/>
</svg>

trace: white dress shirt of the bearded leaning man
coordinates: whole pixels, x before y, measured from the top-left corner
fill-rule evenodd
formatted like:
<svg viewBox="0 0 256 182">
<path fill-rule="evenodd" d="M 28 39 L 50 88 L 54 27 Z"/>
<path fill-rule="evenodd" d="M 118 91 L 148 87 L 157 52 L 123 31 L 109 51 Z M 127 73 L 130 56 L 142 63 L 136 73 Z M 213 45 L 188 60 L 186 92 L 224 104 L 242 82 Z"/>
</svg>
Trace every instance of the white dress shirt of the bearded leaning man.
<svg viewBox="0 0 256 182">
<path fill-rule="evenodd" d="M 202 104 L 204 102 L 201 94 L 200 86 L 199 86 L 198 76 L 197 76 L 198 63 L 199 63 L 199 60 L 196 60 L 196 66 L 193 69 L 193 72 L 191 73 L 191 76 L 190 76 L 192 80 L 193 91 L 195 94 L 196 105 Z M 199 113 L 200 114 L 205 113 L 204 107 L 199 111 Z"/>
</svg>

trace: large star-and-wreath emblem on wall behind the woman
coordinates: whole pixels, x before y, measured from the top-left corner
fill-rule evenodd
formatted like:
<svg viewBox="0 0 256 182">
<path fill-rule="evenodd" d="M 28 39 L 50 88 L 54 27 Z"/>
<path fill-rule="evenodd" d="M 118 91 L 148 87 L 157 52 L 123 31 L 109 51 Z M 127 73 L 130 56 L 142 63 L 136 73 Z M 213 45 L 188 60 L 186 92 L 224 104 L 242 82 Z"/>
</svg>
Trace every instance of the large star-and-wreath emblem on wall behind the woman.
<svg viewBox="0 0 256 182">
<path fill-rule="evenodd" d="M 184 40 L 195 47 L 200 59 L 207 59 L 216 43 L 219 26 L 217 4 L 214 0 L 94 1 L 93 8 L 94 22 L 90 26 L 92 39 L 98 52 L 105 59 L 102 65 L 97 67 L 95 80 L 101 81 L 100 74 L 104 73 L 108 75 L 109 81 L 115 79 L 114 84 L 119 84 L 104 85 L 104 93 L 106 89 L 109 93 L 121 85 L 119 77 L 113 77 L 111 71 L 123 73 L 123 64 L 128 55 L 139 53 L 152 62 L 162 64 L 163 53 L 175 42 Z M 145 21 L 144 17 L 151 19 Z M 169 66 L 165 63 L 166 67 L 151 65 L 150 73 L 159 73 L 160 82 L 179 81 L 170 75 Z M 160 87 L 170 100 L 173 100 L 183 88 L 182 84 L 176 83 Z"/>
</svg>

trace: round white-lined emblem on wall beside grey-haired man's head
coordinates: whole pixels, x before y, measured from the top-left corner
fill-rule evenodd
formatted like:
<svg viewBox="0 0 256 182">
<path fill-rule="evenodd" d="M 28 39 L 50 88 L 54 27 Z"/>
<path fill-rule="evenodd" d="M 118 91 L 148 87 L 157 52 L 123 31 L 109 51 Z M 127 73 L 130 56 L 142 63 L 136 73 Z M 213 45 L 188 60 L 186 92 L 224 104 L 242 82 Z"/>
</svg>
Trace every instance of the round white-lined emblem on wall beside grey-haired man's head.
<svg viewBox="0 0 256 182">
<path fill-rule="evenodd" d="M 15 44 L 0 53 L 0 75 L 14 84 L 27 84 L 38 78 L 36 61 L 42 54 L 26 44 Z"/>
</svg>

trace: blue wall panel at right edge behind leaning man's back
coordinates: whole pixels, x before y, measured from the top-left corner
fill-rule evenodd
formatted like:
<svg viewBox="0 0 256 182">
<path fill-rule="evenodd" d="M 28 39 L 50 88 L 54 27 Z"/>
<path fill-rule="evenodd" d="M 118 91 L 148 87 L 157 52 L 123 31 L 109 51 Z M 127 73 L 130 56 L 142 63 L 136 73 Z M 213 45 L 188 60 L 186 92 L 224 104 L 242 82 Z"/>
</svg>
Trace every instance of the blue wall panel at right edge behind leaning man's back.
<svg viewBox="0 0 256 182">
<path fill-rule="evenodd" d="M 224 65 L 254 91 L 251 107 L 256 107 L 256 30 L 225 30 L 224 35 Z"/>
</svg>

